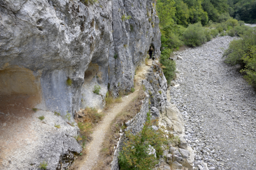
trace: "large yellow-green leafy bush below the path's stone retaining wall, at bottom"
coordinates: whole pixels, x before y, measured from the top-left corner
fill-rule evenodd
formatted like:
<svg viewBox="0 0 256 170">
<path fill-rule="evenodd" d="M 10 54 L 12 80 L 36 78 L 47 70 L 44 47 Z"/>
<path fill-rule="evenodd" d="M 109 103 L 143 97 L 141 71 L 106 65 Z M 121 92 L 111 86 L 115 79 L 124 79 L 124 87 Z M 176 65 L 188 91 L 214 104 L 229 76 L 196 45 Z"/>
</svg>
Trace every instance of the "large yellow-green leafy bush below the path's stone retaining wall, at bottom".
<svg viewBox="0 0 256 170">
<path fill-rule="evenodd" d="M 161 146 L 168 143 L 165 137 L 167 134 L 161 128 L 153 130 L 152 126 L 157 126 L 158 120 L 147 120 L 139 133 L 133 135 L 130 130 L 125 132 L 128 140 L 119 155 L 121 170 L 151 170 L 158 163 L 157 158 L 162 153 Z M 149 154 L 152 147 L 156 150 L 156 157 Z"/>
</svg>

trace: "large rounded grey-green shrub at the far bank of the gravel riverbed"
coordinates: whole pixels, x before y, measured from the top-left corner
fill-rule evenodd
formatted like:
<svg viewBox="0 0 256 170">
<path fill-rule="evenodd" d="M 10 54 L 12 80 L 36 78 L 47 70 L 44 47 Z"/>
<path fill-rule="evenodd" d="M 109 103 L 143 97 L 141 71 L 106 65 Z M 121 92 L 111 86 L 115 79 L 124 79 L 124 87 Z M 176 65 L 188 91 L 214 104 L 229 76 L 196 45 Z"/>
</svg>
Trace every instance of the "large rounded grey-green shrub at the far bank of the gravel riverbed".
<svg viewBox="0 0 256 170">
<path fill-rule="evenodd" d="M 183 34 L 184 43 L 190 47 L 200 46 L 206 42 L 204 28 L 200 22 L 189 25 Z"/>
</svg>

